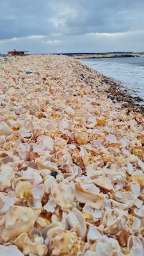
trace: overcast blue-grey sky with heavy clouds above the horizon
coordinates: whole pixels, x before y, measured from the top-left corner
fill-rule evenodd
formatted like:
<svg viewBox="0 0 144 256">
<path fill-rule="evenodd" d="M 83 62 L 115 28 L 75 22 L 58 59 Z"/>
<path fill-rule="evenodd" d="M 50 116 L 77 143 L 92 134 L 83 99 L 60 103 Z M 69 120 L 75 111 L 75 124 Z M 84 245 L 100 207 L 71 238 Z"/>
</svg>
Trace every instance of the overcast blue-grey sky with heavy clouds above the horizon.
<svg viewBox="0 0 144 256">
<path fill-rule="evenodd" d="M 144 0 L 1 0 L 0 52 L 144 52 Z"/>
</svg>

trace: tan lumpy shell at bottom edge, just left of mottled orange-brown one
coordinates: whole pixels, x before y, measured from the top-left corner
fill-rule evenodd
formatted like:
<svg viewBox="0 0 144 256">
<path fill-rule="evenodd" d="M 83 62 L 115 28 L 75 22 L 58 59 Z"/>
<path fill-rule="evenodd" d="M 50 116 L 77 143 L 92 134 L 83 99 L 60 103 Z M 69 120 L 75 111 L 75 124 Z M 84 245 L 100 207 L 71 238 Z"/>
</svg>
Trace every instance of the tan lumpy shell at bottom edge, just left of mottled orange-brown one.
<svg viewBox="0 0 144 256">
<path fill-rule="evenodd" d="M 31 241 L 26 233 L 22 233 L 15 239 L 15 245 L 24 255 L 29 255 L 30 253 L 38 256 L 47 255 L 47 246 L 43 243 L 42 237 L 35 237 L 34 241 Z"/>
</svg>

